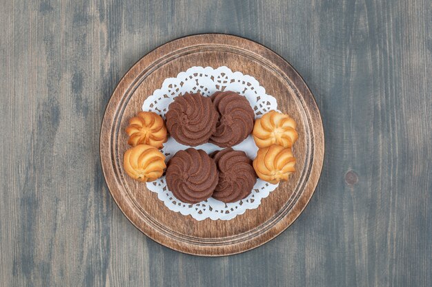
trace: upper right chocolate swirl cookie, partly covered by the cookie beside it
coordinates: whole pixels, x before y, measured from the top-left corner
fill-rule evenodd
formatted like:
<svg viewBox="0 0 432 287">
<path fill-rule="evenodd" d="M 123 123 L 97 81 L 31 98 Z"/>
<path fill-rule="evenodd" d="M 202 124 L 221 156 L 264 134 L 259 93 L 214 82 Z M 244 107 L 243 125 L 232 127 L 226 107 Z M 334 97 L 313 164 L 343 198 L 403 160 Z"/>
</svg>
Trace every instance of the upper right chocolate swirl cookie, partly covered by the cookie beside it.
<svg viewBox="0 0 432 287">
<path fill-rule="evenodd" d="M 251 104 L 235 92 L 215 92 L 211 98 L 219 112 L 219 120 L 210 142 L 219 147 L 239 144 L 253 129 L 255 114 Z"/>
</svg>

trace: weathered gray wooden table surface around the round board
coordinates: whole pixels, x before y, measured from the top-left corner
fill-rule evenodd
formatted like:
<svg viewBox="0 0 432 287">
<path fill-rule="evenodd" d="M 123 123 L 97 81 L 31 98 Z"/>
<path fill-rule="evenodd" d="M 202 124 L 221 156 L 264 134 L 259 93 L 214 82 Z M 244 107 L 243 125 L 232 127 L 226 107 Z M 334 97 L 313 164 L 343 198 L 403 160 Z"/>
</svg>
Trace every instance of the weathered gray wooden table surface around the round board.
<svg viewBox="0 0 432 287">
<path fill-rule="evenodd" d="M 141 234 L 99 163 L 121 76 L 202 32 L 245 36 L 292 63 L 326 135 L 304 213 L 230 257 Z M 432 286 L 431 75 L 429 0 L 2 0 L 0 285 Z"/>
</svg>

